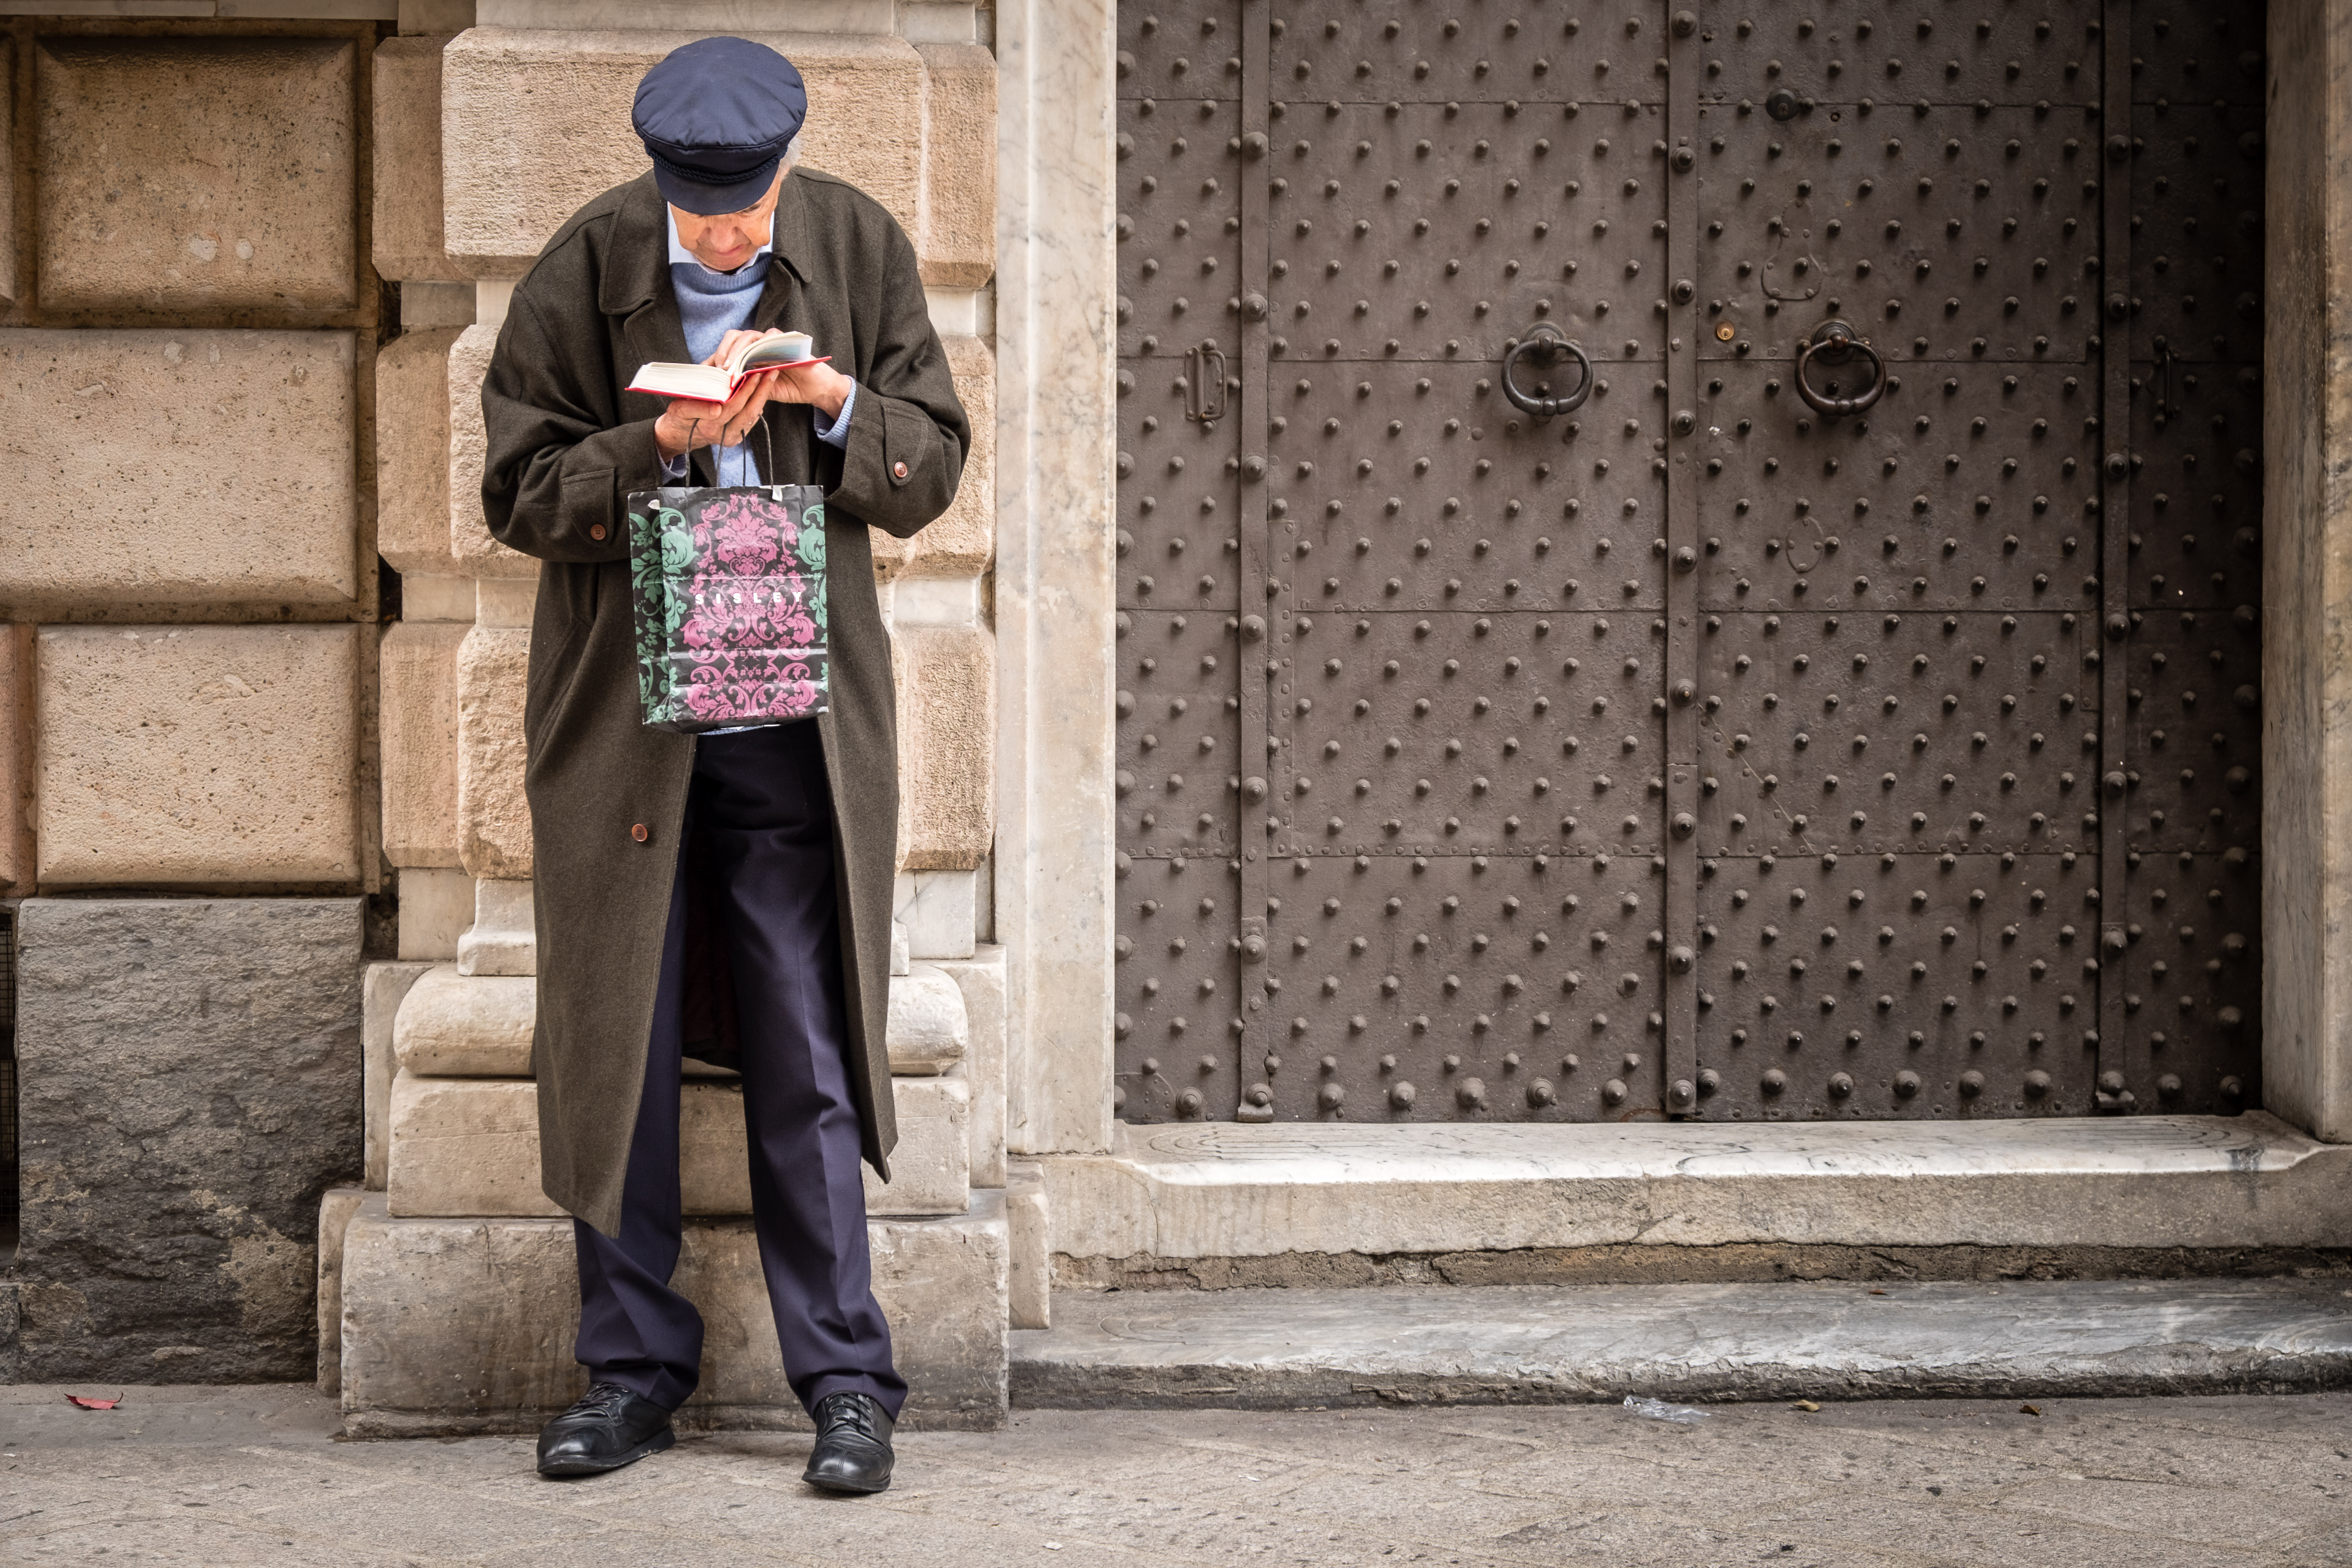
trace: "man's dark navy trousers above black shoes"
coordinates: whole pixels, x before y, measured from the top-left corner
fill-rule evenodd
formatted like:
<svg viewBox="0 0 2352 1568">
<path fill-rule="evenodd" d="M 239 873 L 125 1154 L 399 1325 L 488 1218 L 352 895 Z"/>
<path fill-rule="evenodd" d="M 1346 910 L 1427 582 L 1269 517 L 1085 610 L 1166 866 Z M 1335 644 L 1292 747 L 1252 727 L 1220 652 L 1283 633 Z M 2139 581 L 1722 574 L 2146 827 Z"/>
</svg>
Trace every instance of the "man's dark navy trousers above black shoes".
<svg viewBox="0 0 2352 1568">
<path fill-rule="evenodd" d="M 701 736 L 687 823 L 734 971 L 750 1143 L 753 1227 L 783 1371 L 800 1403 L 873 1394 L 898 1415 L 906 1380 L 873 1295 L 858 1112 L 849 1095 L 833 795 L 816 722 Z M 644 1098 L 628 1147 L 621 1232 L 574 1220 L 581 1274 L 576 1356 L 677 1408 L 701 1382 L 703 1316 L 670 1288 L 680 1251 L 677 1098 L 687 966 L 687 844 L 670 893 Z"/>
</svg>

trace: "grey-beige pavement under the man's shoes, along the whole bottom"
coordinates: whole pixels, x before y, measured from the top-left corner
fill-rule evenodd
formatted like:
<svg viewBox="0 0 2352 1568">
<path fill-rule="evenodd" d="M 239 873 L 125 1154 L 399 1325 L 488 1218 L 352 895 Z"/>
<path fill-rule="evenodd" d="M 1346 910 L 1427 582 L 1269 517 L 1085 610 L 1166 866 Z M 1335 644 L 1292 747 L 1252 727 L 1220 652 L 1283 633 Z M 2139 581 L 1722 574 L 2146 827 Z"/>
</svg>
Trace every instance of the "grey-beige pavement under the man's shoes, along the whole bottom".
<svg viewBox="0 0 2352 1568">
<path fill-rule="evenodd" d="M 80 1389 L 113 1394 L 115 1389 Z M 1016 1410 L 901 1439 L 898 1486 L 800 1486 L 807 1436 L 689 1436 L 548 1483 L 527 1439 L 336 1441 L 303 1387 L 0 1387 L 0 1561 L 2352 1563 L 2352 1394 L 1435 1410 Z"/>
</svg>

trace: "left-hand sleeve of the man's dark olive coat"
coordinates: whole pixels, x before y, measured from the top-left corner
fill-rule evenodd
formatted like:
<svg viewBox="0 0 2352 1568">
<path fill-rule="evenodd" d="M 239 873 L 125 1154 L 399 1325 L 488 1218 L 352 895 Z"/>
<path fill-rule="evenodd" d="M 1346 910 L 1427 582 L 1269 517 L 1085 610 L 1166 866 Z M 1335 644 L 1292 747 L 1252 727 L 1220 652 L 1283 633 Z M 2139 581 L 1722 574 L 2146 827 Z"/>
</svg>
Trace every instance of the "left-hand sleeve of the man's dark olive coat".
<svg viewBox="0 0 2352 1568">
<path fill-rule="evenodd" d="M 588 364 L 597 331 L 555 331 L 515 289 L 482 378 L 482 515 L 492 536 L 546 562 L 628 557 L 621 496 L 659 489 L 654 421 L 612 423 L 612 376 Z"/>
</svg>

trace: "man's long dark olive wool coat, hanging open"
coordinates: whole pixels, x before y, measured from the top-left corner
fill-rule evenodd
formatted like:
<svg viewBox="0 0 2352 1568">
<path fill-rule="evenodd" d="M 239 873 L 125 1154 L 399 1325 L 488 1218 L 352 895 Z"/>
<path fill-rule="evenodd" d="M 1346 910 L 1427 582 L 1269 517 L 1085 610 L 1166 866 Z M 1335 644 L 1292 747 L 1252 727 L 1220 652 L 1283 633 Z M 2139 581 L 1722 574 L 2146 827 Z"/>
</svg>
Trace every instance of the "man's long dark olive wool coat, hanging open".
<svg viewBox="0 0 2352 1568">
<path fill-rule="evenodd" d="M 833 691 L 823 733 L 849 1004 L 849 1084 L 866 1159 L 889 1178 L 898 1138 L 882 1020 L 889 1006 L 898 741 L 889 632 L 861 524 L 908 536 L 948 510 L 971 425 L 948 378 L 915 247 L 868 195 L 795 169 L 753 327 L 807 331 L 856 376 L 847 449 L 814 440 L 804 404 L 769 404 L 771 482 L 828 489 Z M 602 1232 L 644 1086 L 661 936 L 677 872 L 694 738 L 647 729 L 630 625 L 628 494 L 661 484 L 663 402 L 623 386 L 647 360 L 687 360 L 654 176 L 581 207 L 515 284 L 482 381 L 482 510 L 536 555 L 524 705 L 539 905 L 539 1161 L 546 1194 Z M 755 433 L 750 449 L 764 456 Z M 694 454 L 710 484 L 710 451 Z M 694 858 L 689 853 L 689 867 Z M 689 870 L 691 882 L 691 870 Z M 708 929 L 689 919 L 687 1037 L 731 1016 Z M 696 994 L 696 987 L 713 994 Z"/>
</svg>

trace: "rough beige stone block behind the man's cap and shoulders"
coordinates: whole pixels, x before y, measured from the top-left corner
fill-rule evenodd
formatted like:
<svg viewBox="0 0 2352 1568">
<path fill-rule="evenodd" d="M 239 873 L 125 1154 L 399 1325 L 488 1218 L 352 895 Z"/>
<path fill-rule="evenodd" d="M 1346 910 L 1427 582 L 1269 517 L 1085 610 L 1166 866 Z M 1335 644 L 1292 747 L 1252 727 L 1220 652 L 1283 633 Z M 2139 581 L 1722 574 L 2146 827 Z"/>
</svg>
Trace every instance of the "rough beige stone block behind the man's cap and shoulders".
<svg viewBox="0 0 2352 1568">
<path fill-rule="evenodd" d="M 898 219 L 922 254 L 922 56 L 898 38 L 753 33 L 800 66 L 800 155 Z M 520 277 L 581 202 L 644 174 L 637 82 L 694 33 L 473 28 L 442 52 L 447 247 Z M 988 143 L 990 148 L 995 141 Z"/>
</svg>

